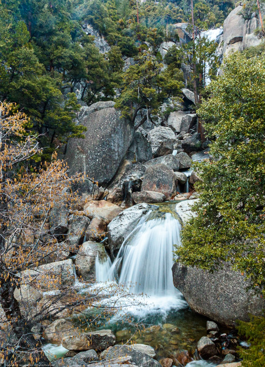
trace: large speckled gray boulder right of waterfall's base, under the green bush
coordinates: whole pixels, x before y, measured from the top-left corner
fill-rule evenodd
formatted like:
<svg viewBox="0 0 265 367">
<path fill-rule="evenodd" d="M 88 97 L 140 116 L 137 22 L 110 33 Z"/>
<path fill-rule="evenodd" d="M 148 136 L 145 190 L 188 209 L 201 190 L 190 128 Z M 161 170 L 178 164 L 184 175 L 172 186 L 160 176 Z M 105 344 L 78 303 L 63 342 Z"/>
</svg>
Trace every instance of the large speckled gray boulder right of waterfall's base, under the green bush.
<svg viewBox="0 0 265 367">
<path fill-rule="evenodd" d="M 246 291 L 249 283 L 228 263 L 211 274 L 177 262 L 172 273 L 174 286 L 191 309 L 222 325 L 234 326 L 236 320 L 247 321 L 249 314 L 261 315 L 265 308 L 264 299 Z"/>
</svg>

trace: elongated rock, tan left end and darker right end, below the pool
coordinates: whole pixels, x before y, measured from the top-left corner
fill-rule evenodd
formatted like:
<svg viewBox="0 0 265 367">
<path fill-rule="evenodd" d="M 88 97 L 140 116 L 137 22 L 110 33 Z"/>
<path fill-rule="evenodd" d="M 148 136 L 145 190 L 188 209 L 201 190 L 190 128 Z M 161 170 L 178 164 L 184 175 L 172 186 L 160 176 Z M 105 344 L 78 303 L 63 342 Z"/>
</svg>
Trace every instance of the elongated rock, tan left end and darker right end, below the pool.
<svg viewBox="0 0 265 367">
<path fill-rule="evenodd" d="M 111 330 L 81 332 L 79 329 L 69 333 L 62 340 L 62 345 L 69 350 L 104 350 L 115 344 Z"/>
</svg>

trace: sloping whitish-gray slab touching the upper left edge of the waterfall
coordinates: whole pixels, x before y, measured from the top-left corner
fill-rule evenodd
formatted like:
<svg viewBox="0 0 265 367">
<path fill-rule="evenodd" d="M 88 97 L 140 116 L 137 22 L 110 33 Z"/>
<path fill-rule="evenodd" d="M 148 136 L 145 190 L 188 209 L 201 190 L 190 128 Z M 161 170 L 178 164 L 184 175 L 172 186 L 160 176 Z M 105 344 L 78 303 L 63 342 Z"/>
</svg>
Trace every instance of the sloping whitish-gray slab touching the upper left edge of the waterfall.
<svg viewBox="0 0 265 367">
<path fill-rule="evenodd" d="M 112 256 L 119 250 L 127 236 L 136 227 L 140 218 L 146 214 L 151 205 L 137 204 L 117 215 L 108 225 L 108 245 Z"/>
</svg>

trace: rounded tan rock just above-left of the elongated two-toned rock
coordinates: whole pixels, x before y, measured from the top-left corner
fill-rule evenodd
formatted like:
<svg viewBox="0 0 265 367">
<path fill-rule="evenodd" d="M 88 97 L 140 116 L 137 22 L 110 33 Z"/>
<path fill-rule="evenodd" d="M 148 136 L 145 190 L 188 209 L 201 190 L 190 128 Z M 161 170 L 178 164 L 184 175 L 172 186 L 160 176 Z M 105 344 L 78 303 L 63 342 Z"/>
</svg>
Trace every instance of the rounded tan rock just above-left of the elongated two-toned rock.
<svg viewBox="0 0 265 367">
<path fill-rule="evenodd" d="M 66 319 L 58 319 L 45 327 L 43 330 L 43 338 L 49 343 L 61 344 L 62 339 L 68 332 L 71 332 L 73 325 Z"/>
</svg>

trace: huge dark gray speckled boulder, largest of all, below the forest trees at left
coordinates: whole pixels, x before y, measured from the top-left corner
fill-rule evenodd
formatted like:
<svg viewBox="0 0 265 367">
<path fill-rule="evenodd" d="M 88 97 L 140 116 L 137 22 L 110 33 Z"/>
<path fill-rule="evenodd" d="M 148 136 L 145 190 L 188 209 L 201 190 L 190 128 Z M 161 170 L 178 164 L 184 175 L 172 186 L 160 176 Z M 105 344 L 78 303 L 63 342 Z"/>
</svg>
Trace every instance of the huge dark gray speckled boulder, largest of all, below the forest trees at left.
<svg viewBox="0 0 265 367">
<path fill-rule="evenodd" d="M 84 173 L 105 187 L 133 141 L 133 126 L 121 118 L 111 101 L 82 107 L 78 121 L 87 131 L 84 139 L 71 138 L 68 141 L 65 159 L 69 174 Z"/>
</svg>

